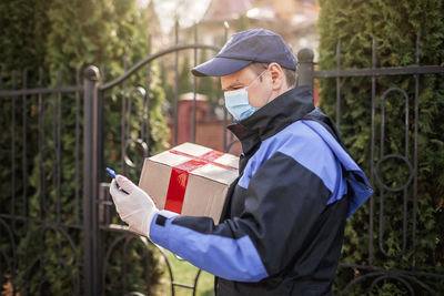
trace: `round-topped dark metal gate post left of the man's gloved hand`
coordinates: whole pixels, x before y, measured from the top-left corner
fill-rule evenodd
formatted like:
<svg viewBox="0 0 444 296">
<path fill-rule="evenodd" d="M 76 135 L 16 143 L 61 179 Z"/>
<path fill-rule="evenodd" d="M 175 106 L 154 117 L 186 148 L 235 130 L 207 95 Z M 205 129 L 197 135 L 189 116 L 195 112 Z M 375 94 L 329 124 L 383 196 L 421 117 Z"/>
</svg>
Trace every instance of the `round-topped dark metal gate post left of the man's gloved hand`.
<svg viewBox="0 0 444 296">
<path fill-rule="evenodd" d="M 97 239 L 98 196 L 98 81 L 99 69 L 90 65 L 83 79 L 83 295 L 99 295 Z"/>
</svg>

